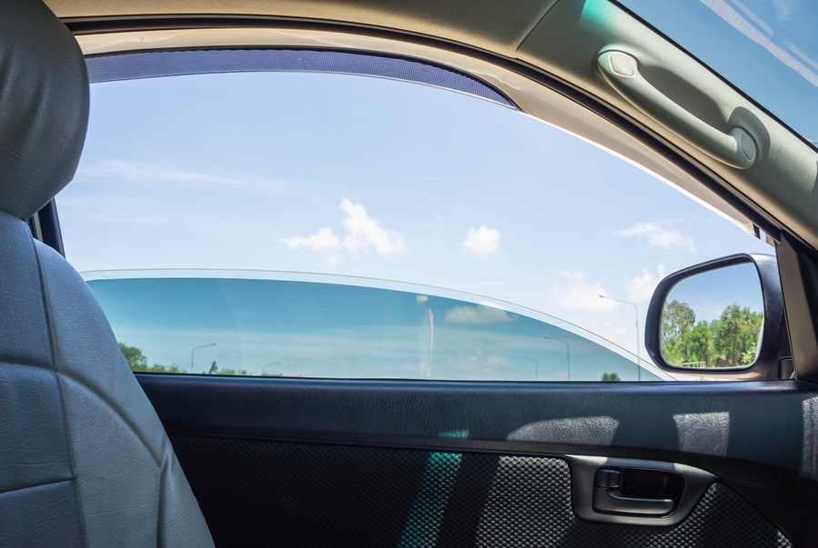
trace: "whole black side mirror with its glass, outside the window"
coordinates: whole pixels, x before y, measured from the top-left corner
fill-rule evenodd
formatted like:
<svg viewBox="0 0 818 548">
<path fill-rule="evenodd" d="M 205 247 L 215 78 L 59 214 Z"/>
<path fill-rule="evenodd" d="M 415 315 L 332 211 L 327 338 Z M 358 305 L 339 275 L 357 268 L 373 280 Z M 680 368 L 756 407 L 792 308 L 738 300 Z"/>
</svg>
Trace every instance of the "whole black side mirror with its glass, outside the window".
<svg viewBox="0 0 818 548">
<path fill-rule="evenodd" d="M 783 327 L 775 257 L 736 254 L 661 281 L 648 308 L 645 346 L 655 364 L 674 374 L 780 379 L 791 373 L 783 366 L 789 355 Z"/>
</svg>

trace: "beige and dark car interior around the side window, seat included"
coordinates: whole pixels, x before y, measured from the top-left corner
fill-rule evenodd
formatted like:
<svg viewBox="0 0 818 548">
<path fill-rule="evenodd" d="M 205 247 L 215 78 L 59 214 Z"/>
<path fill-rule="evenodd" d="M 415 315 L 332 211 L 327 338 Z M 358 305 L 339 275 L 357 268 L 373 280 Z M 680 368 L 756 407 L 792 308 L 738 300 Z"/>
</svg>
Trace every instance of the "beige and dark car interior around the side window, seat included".
<svg viewBox="0 0 818 548">
<path fill-rule="evenodd" d="M 11 0 L 4 11 L 0 544 L 818 544 L 818 151 L 624 5 Z M 57 215 L 89 85 L 249 70 L 218 56 L 247 49 L 444 67 L 457 75 L 447 86 L 640 164 L 776 256 L 714 259 L 657 285 L 645 347 L 682 380 L 134 374 Z M 181 53 L 182 68 L 157 52 Z M 760 342 L 752 364 L 710 370 L 722 382 L 695 380 L 701 370 L 662 350 L 663 306 L 692 276 L 734 265 L 759 279 Z"/>
</svg>

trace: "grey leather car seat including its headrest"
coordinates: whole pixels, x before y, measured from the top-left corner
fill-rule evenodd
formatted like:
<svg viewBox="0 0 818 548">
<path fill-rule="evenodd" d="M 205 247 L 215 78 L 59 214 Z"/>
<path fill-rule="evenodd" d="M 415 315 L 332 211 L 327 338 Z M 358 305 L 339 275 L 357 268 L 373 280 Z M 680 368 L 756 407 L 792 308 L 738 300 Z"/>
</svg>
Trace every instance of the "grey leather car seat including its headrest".
<svg viewBox="0 0 818 548">
<path fill-rule="evenodd" d="M 39 1 L 2 11 L 0 545 L 212 545 L 94 296 L 25 223 L 76 170 L 84 59 Z"/>
</svg>

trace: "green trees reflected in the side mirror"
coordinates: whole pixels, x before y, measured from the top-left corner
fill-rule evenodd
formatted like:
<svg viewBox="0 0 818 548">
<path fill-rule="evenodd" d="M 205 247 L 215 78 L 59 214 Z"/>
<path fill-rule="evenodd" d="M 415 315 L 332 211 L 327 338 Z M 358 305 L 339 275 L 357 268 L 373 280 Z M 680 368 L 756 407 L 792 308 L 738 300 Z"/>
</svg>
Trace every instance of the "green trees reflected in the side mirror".
<svg viewBox="0 0 818 548">
<path fill-rule="evenodd" d="M 669 364 L 734 367 L 755 360 L 764 314 L 730 304 L 711 322 L 696 321 L 692 308 L 678 300 L 661 311 L 661 354 Z"/>
</svg>

